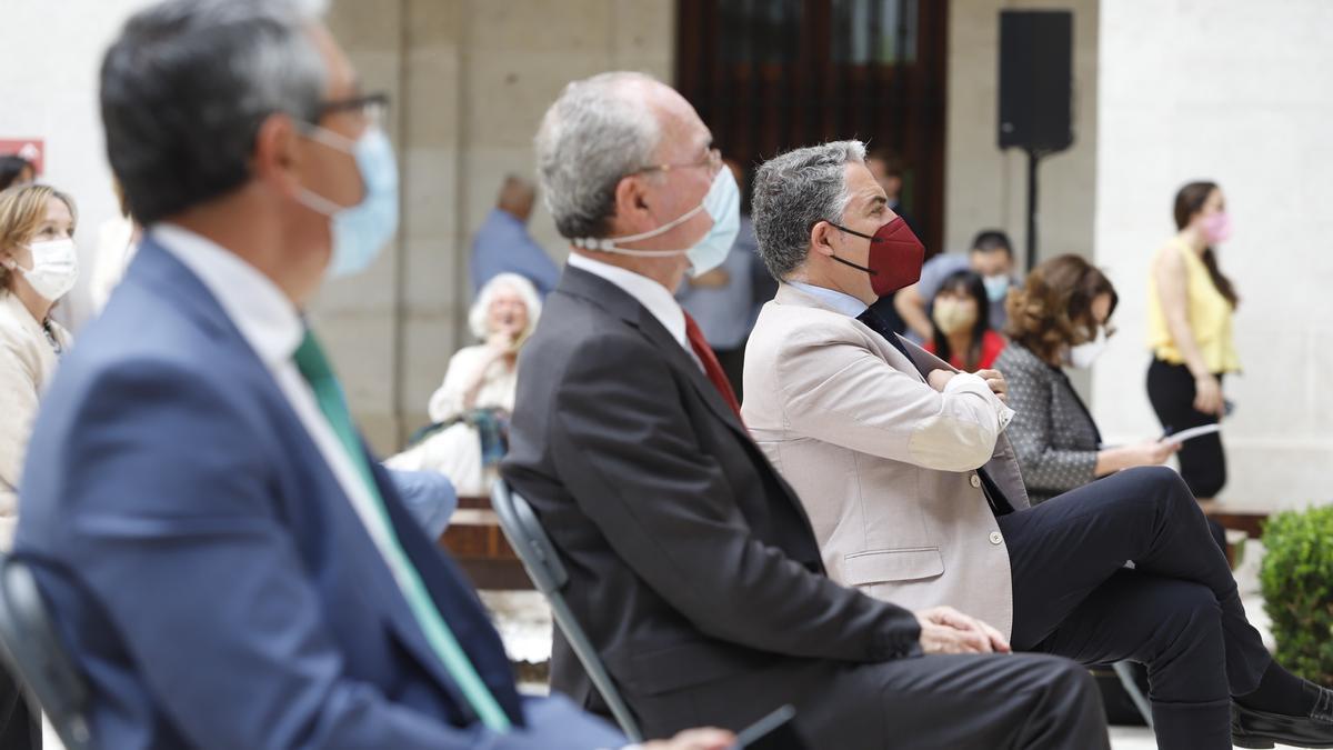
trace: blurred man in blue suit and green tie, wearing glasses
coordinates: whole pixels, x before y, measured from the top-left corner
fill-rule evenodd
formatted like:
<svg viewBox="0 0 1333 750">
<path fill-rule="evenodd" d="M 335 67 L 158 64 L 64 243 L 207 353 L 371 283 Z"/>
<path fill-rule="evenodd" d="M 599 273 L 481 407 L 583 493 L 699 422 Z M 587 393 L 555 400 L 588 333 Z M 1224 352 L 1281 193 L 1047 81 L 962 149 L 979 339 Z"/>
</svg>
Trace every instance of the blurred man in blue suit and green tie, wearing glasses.
<svg viewBox="0 0 1333 750">
<path fill-rule="evenodd" d="M 148 231 L 47 395 L 16 542 L 103 747 L 625 743 L 519 695 L 301 316 L 395 232 L 383 104 L 295 1 L 172 0 L 107 53 L 107 147 Z"/>
</svg>

